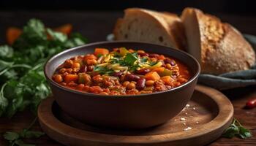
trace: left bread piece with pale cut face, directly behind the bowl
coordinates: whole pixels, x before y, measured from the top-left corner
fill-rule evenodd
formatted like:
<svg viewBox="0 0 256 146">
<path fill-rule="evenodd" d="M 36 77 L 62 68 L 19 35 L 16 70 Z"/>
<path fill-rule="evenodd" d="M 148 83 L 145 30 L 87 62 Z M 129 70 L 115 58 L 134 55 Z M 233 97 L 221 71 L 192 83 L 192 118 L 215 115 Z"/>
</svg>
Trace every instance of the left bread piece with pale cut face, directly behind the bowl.
<svg viewBox="0 0 256 146">
<path fill-rule="evenodd" d="M 168 12 L 129 8 L 117 20 L 113 34 L 116 40 L 151 42 L 184 50 L 186 37 L 181 19 Z"/>
</svg>

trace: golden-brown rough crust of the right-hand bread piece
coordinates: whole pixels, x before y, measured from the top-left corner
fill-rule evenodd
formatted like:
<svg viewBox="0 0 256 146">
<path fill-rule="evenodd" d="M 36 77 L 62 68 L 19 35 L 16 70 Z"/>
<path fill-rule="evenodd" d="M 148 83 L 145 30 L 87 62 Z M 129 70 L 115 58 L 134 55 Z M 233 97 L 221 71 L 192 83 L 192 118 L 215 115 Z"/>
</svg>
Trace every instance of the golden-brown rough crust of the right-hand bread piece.
<svg viewBox="0 0 256 146">
<path fill-rule="evenodd" d="M 222 74 L 249 69 L 255 52 L 241 33 L 215 16 L 195 11 L 200 30 L 202 72 Z"/>
</svg>

